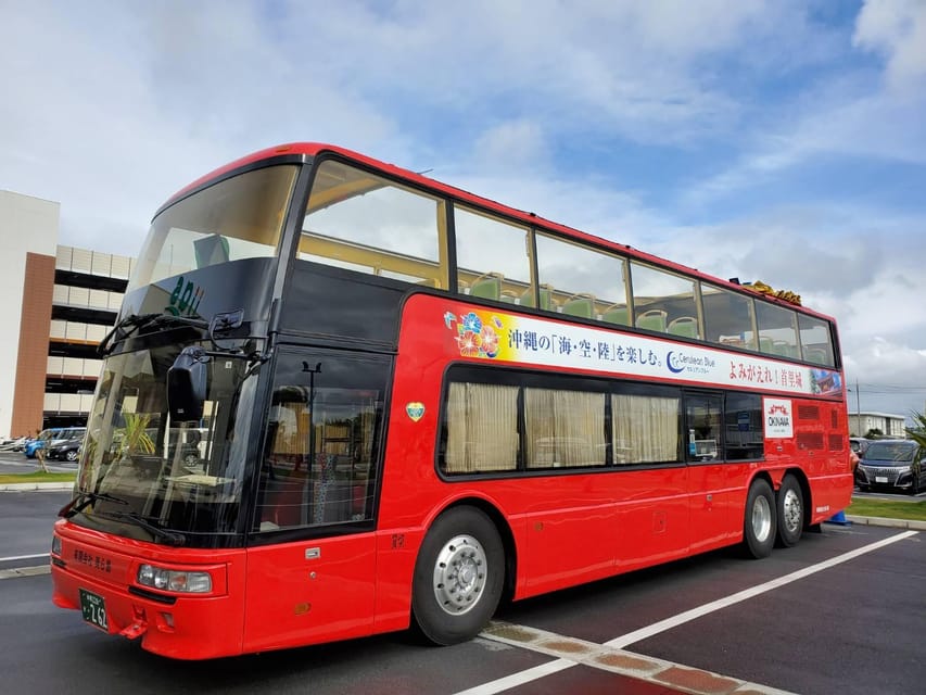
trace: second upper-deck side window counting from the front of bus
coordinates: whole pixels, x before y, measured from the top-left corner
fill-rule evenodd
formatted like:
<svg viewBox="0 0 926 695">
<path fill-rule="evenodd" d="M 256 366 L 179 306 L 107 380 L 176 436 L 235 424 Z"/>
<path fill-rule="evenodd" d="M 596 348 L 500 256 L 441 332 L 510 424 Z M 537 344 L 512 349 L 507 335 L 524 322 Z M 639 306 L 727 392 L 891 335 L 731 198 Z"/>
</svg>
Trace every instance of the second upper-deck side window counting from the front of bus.
<svg viewBox="0 0 926 695">
<path fill-rule="evenodd" d="M 532 295 L 528 229 L 454 207 L 460 292 L 516 302 Z"/>
</svg>

